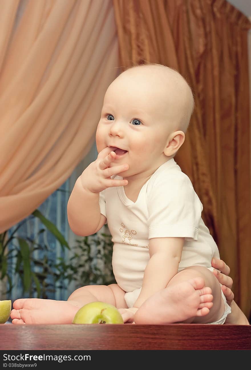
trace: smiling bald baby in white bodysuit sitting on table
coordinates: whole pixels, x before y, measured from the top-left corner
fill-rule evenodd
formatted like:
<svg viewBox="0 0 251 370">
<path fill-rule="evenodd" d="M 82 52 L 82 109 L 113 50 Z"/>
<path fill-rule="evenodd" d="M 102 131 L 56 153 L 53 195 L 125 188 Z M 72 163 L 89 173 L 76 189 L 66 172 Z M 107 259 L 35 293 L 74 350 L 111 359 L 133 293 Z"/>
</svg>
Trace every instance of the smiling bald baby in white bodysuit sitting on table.
<svg viewBox="0 0 251 370">
<path fill-rule="evenodd" d="M 70 323 L 95 301 L 115 305 L 127 323 L 225 322 L 231 309 L 211 266 L 218 248 L 173 159 L 193 107 L 187 82 L 163 65 L 132 67 L 112 82 L 96 131 L 98 158 L 77 179 L 67 212 L 77 235 L 108 223 L 117 284 L 81 287 L 66 302 L 18 299 L 13 323 Z"/>
</svg>

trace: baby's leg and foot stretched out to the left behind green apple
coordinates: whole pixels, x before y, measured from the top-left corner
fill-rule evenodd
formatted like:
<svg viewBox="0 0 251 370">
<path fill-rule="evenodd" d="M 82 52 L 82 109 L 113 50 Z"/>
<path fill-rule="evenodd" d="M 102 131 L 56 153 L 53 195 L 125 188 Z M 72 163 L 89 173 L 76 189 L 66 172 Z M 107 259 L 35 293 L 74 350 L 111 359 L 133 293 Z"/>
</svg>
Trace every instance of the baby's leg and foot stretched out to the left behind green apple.
<svg viewBox="0 0 251 370">
<path fill-rule="evenodd" d="M 77 311 L 90 302 L 107 302 L 127 308 L 123 296 L 125 292 L 117 284 L 89 285 L 75 290 L 67 301 L 17 299 L 10 317 L 13 324 L 70 324 Z"/>
</svg>

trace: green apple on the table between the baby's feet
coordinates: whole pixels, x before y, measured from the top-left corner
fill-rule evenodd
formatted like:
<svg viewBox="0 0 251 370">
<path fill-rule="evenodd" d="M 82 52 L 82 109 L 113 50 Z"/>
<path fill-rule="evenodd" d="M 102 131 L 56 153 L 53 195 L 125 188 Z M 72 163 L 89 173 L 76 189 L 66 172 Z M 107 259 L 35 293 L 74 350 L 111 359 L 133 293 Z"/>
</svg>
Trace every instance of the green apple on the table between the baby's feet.
<svg viewBox="0 0 251 370">
<path fill-rule="evenodd" d="M 73 324 L 123 324 L 123 319 L 115 306 L 105 302 L 87 303 L 78 310 Z"/>
</svg>

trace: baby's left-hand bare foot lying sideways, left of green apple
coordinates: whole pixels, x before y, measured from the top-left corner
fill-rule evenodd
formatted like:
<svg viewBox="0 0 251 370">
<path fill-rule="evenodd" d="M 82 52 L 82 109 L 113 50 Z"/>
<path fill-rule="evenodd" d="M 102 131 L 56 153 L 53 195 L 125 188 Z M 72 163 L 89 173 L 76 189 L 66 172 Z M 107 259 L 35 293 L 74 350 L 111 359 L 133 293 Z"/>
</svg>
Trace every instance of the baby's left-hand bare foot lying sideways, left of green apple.
<svg viewBox="0 0 251 370">
<path fill-rule="evenodd" d="M 13 324 L 70 324 L 80 307 L 68 301 L 24 298 L 13 303 Z"/>
</svg>

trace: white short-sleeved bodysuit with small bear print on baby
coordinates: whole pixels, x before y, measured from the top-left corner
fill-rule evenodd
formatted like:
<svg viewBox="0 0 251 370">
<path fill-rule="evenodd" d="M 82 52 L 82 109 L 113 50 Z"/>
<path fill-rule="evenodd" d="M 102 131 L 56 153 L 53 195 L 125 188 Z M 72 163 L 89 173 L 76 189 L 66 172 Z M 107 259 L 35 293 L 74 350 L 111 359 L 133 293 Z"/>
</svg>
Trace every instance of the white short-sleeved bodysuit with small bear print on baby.
<svg viewBox="0 0 251 370">
<path fill-rule="evenodd" d="M 112 178 L 123 179 L 118 175 Z M 142 287 L 150 259 L 149 239 L 185 238 L 178 271 L 194 265 L 212 271 L 211 259 L 220 258 L 201 218 L 200 199 L 174 159 L 153 173 L 135 203 L 127 198 L 124 187 L 118 186 L 99 193 L 99 206 L 112 235 L 113 274 L 118 285 L 128 292 L 125 294 L 128 307 L 133 306 Z"/>
</svg>

